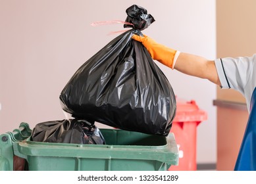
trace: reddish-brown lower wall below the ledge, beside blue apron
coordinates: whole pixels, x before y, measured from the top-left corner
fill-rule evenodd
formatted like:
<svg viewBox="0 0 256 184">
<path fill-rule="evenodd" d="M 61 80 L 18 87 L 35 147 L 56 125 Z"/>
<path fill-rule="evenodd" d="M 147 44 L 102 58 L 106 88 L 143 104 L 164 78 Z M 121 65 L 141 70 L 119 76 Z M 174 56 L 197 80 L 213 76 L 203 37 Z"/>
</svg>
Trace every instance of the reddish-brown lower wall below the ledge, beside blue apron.
<svg viewBox="0 0 256 184">
<path fill-rule="evenodd" d="M 247 110 L 217 108 L 217 170 L 234 170 L 243 133 Z"/>
</svg>

